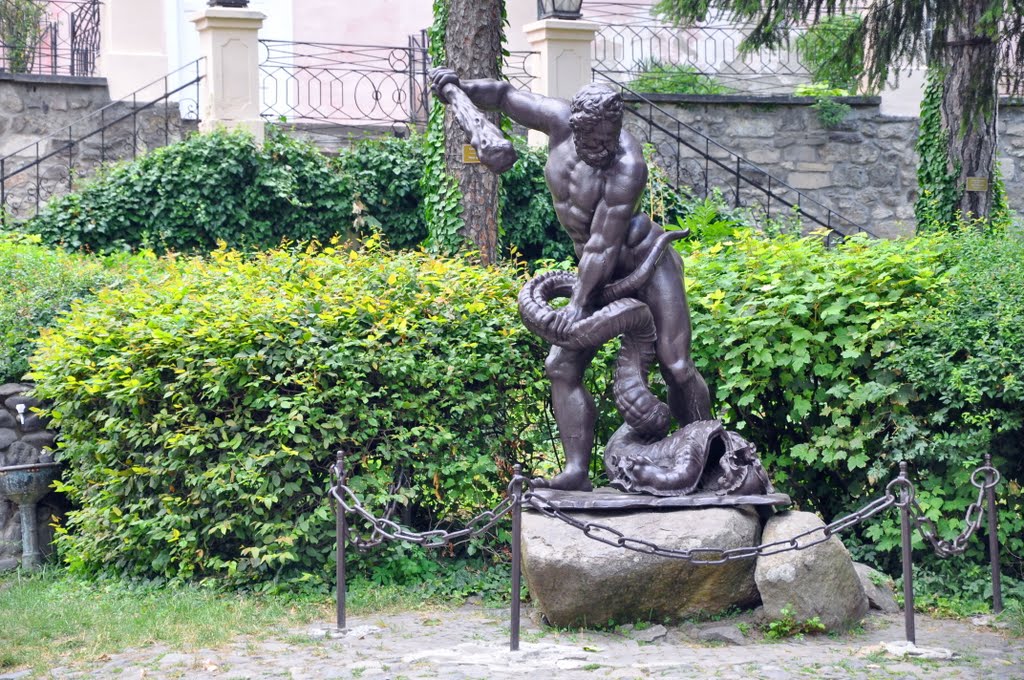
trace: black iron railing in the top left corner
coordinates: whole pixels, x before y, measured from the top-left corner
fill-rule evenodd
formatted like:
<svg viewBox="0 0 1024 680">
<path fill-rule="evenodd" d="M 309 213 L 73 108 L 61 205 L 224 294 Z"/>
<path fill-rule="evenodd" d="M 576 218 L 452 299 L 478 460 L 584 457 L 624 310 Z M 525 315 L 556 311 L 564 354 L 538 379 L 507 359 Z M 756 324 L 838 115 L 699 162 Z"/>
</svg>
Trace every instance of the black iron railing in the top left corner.
<svg viewBox="0 0 1024 680">
<path fill-rule="evenodd" d="M 100 0 L 0 0 L 0 72 L 89 77 Z"/>
</svg>

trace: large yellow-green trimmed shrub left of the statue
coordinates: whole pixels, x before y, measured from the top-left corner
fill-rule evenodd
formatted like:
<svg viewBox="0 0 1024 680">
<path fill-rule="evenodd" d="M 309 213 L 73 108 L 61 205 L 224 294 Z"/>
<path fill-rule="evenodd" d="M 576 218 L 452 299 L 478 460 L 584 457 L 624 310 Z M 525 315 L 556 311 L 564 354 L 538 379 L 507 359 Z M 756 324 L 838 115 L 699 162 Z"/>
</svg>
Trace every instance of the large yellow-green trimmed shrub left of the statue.
<svg viewBox="0 0 1024 680">
<path fill-rule="evenodd" d="M 73 571 L 323 587 L 334 452 L 370 508 L 395 501 L 419 527 L 494 506 L 513 459 L 543 469 L 545 351 L 518 270 L 373 241 L 167 268 L 77 303 L 34 357 Z M 420 548 L 391 550 L 361 566 L 430 572 Z"/>
</svg>

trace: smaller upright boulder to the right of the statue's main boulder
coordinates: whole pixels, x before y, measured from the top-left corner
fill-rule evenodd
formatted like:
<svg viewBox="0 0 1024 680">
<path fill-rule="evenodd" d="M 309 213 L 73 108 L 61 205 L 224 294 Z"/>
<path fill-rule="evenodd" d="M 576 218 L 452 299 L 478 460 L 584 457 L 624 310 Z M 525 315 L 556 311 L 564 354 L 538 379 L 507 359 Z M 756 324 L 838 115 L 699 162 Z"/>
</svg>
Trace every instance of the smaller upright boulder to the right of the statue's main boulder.
<svg viewBox="0 0 1024 680">
<path fill-rule="evenodd" d="M 783 512 L 767 521 L 762 541 L 787 541 L 823 525 L 809 512 Z M 867 596 L 853 559 L 836 536 L 805 550 L 759 557 L 754 579 L 769 619 L 781 618 L 788 606 L 798 621 L 818 617 L 833 631 L 849 628 L 867 613 Z"/>
</svg>

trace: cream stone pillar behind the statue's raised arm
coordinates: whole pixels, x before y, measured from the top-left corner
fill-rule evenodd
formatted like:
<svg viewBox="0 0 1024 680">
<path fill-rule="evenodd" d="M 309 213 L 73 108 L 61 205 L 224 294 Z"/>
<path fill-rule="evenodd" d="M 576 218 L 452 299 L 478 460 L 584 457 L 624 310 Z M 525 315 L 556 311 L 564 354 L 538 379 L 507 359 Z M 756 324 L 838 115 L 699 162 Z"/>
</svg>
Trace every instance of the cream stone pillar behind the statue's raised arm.
<svg viewBox="0 0 1024 680">
<path fill-rule="evenodd" d="M 523 27 L 530 48 L 540 52 L 537 78 L 531 89 L 537 94 L 571 99 L 592 80 L 592 43 L 597 24 L 563 18 L 544 18 Z M 548 136 L 529 131 L 529 143 L 546 145 Z"/>
</svg>

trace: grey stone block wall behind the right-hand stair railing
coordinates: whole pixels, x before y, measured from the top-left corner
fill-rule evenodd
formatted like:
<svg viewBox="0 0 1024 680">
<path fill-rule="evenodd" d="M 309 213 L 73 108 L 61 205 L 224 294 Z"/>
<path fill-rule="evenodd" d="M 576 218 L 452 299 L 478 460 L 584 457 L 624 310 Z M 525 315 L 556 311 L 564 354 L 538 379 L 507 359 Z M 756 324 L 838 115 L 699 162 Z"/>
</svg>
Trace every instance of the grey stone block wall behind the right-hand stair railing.
<svg viewBox="0 0 1024 680">
<path fill-rule="evenodd" d="M 846 97 L 852 112 L 836 129 L 826 129 L 811 108 L 813 99 L 793 96 L 651 97 L 683 123 L 797 189 L 880 236 L 913 232 L 918 196 L 914 144 L 918 119 L 883 116 L 878 97 Z M 641 110 L 645 110 L 641 108 Z M 675 121 L 655 111 L 654 121 L 670 131 Z M 670 135 L 636 117 L 627 125 L 657 146 L 670 175 L 702 190 L 705 164 L 670 140 Z M 683 128 L 685 133 L 685 128 Z M 1004 105 L 999 119 L 999 160 L 1011 207 L 1024 210 L 1024 107 Z M 703 148 L 703 143 L 698 144 Z M 711 148 L 714 153 L 714 147 Z M 750 169 L 743 169 L 750 174 Z M 734 180 L 712 164 L 710 186 L 728 196 Z M 741 192 L 741 201 L 753 200 Z"/>
</svg>

